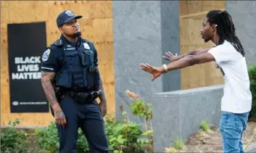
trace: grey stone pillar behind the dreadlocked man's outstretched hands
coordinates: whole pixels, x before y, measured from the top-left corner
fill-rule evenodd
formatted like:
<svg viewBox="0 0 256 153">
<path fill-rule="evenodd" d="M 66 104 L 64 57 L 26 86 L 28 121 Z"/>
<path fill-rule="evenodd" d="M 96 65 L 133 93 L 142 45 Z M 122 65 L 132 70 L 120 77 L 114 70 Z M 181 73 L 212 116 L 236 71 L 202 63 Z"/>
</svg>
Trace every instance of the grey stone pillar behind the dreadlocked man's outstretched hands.
<svg viewBox="0 0 256 153">
<path fill-rule="evenodd" d="M 178 90 L 180 71 L 151 81 L 151 75 L 140 69 L 140 63 L 161 66 L 166 51 L 179 54 L 178 1 L 113 1 L 113 34 L 115 55 L 116 117 L 119 106 L 129 113 L 131 100 L 125 90 L 131 90 L 147 102 L 153 93 Z"/>
</svg>

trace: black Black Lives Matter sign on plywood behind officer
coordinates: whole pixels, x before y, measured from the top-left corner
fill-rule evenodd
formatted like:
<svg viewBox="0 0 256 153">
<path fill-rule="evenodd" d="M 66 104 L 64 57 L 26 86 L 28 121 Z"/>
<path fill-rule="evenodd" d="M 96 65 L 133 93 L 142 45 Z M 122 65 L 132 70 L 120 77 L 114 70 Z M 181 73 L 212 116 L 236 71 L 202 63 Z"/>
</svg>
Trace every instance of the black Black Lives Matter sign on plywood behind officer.
<svg viewBox="0 0 256 153">
<path fill-rule="evenodd" d="M 11 112 L 49 112 L 40 74 L 46 23 L 8 24 L 7 33 Z"/>
</svg>

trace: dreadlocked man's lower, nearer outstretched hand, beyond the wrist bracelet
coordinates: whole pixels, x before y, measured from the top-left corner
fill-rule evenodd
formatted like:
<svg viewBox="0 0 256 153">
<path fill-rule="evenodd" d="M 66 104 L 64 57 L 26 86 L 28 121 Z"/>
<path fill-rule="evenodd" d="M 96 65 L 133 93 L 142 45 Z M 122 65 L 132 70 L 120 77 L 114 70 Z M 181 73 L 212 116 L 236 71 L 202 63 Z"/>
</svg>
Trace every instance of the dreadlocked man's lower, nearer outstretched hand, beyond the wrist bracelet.
<svg viewBox="0 0 256 153">
<path fill-rule="evenodd" d="M 152 74 L 152 81 L 162 75 L 161 67 L 153 67 L 149 64 L 141 63 L 141 70 L 144 70 L 145 72 Z"/>
</svg>

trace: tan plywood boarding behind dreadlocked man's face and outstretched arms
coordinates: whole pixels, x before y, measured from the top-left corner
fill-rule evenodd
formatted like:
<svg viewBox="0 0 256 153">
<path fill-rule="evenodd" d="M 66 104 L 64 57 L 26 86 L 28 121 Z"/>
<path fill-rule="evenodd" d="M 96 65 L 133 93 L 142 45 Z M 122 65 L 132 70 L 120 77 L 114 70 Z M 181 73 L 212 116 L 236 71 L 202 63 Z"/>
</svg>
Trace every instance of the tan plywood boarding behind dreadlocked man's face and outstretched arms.
<svg viewBox="0 0 256 153">
<path fill-rule="evenodd" d="M 202 22 L 210 9 L 225 8 L 225 1 L 180 1 L 181 54 L 214 44 L 205 43 L 200 35 Z M 215 62 L 181 69 L 181 89 L 223 84 L 223 76 Z"/>
</svg>

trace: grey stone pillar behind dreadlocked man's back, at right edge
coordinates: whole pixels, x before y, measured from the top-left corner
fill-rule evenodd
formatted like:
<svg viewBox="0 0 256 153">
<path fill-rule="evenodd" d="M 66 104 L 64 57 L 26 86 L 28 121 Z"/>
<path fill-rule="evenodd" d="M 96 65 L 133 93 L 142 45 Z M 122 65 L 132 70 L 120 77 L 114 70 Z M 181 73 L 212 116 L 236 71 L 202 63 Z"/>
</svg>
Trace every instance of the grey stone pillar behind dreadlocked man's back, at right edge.
<svg viewBox="0 0 256 153">
<path fill-rule="evenodd" d="M 247 65 L 256 64 L 256 1 L 226 1 L 226 10 L 236 27 L 236 35 L 246 52 Z"/>
</svg>

